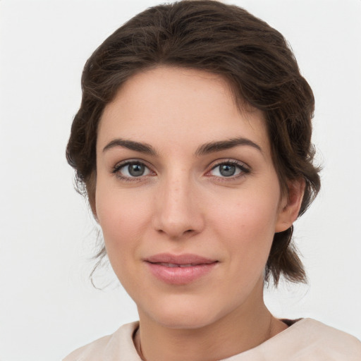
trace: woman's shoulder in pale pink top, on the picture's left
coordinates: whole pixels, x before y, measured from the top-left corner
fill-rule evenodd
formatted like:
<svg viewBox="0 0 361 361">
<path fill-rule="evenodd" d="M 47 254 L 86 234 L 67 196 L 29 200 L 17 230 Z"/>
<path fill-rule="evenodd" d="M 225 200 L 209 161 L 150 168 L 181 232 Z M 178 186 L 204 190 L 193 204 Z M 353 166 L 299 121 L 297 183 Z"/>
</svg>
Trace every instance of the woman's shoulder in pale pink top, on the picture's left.
<svg viewBox="0 0 361 361">
<path fill-rule="evenodd" d="M 99 338 L 66 356 L 63 361 L 102 361 L 127 360 L 138 361 L 140 358 L 133 345 L 133 332 L 139 323 L 124 324 L 114 334 Z"/>
</svg>

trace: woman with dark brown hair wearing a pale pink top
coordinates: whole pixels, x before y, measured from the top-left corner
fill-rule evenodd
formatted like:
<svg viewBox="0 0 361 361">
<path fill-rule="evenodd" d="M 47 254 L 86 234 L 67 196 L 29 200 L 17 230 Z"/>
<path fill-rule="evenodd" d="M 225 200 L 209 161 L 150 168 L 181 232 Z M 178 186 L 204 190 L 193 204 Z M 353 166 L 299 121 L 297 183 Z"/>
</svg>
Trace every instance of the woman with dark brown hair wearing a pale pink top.
<svg viewBox="0 0 361 361">
<path fill-rule="evenodd" d="M 68 161 L 140 322 L 71 360 L 360 360 L 352 336 L 276 319 L 304 282 L 293 221 L 319 190 L 312 90 L 282 35 L 241 8 L 140 13 L 85 65 Z"/>
</svg>

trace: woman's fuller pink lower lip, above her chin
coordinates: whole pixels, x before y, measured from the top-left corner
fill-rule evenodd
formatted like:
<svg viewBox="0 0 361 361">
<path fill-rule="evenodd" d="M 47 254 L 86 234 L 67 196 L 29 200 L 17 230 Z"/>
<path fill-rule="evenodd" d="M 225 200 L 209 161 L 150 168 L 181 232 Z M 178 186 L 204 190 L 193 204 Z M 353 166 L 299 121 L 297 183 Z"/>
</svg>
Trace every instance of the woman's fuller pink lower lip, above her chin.
<svg viewBox="0 0 361 361">
<path fill-rule="evenodd" d="M 150 271 L 157 279 L 173 285 L 185 285 L 209 274 L 217 262 L 197 264 L 190 267 L 166 267 L 157 263 L 146 262 Z"/>
</svg>

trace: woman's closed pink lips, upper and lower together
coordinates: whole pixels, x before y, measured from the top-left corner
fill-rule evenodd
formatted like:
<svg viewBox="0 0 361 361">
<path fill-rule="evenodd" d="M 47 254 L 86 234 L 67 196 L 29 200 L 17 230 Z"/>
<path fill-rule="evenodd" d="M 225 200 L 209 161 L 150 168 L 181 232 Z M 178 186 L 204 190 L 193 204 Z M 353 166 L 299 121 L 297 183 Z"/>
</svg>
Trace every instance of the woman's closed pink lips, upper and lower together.
<svg viewBox="0 0 361 361">
<path fill-rule="evenodd" d="M 145 263 L 157 279 L 173 285 L 185 285 L 208 274 L 218 263 L 216 259 L 198 255 L 161 253 L 147 257 Z"/>
</svg>

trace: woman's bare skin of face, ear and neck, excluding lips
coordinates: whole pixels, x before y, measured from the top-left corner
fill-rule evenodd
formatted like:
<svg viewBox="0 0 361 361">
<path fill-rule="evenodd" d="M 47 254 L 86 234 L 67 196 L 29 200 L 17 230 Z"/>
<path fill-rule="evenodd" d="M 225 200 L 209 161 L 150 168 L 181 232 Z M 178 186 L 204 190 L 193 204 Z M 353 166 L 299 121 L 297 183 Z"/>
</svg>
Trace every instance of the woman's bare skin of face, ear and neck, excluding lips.
<svg viewBox="0 0 361 361">
<path fill-rule="evenodd" d="M 218 75 L 160 67 L 134 75 L 104 109 L 93 209 L 111 265 L 137 304 L 135 345 L 148 361 L 220 360 L 286 329 L 264 305 L 263 274 L 274 233 L 298 215 L 303 183 L 288 182 L 289 195 L 281 194 L 263 114 L 249 108 L 238 109 Z M 200 152 L 235 137 L 257 147 Z M 156 154 L 116 145 L 118 138 Z M 128 160 L 145 164 L 145 173 L 132 177 Z M 235 175 L 224 176 L 219 164 L 235 162 Z M 216 265 L 169 284 L 145 262 L 162 252 Z"/>
</svg>

